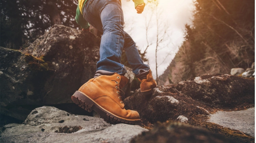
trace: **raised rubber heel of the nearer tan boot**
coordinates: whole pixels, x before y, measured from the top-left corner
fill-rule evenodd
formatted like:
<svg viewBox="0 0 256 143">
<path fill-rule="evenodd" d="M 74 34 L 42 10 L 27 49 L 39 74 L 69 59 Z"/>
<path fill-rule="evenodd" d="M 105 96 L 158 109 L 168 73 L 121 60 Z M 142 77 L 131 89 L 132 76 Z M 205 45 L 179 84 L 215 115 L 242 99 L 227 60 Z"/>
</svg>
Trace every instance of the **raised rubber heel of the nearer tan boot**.
<svg viewBox="0 0 256 143">
<path fill-rule="evenodd" d="M 93 111 L 93 101 L 86 97 L 82 92 L 76 91 L 71 96 L 72 101 L 84 110 L 91 112 Z"/>
</svg>

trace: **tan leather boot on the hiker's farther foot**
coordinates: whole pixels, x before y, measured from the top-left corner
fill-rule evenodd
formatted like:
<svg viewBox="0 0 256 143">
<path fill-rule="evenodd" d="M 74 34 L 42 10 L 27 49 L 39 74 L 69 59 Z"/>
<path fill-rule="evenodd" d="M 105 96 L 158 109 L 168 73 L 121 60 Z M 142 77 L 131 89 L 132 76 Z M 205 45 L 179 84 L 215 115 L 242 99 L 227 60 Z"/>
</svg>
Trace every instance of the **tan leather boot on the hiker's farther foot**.
<svg viewBox="0 0 256 143">
<path fill-rule="evenodd" d="M 152 88 L 157 87 L 157 82 L 153 79 L 150 69 L 148 71 L 140 69 L 140 73 L 136 77 L 141 82 L 140 92 L 144 95 L 151 94 L 153 92 Z"/>
</svg>

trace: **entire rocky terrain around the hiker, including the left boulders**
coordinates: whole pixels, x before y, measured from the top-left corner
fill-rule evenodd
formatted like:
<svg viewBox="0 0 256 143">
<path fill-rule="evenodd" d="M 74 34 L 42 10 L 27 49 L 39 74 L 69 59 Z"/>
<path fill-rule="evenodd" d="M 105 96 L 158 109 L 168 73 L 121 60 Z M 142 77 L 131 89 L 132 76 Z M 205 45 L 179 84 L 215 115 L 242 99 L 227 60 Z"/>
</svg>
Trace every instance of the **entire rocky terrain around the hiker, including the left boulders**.
<svg viewBox="0 0 256 143">
<path fill-rule="evenodd" d="M 255 142 L 255 78 L 203 75 L 145 96 L 139 89 L 130 94 L 129 71 L 124 103 L 139 112 L 139 126 L 91 117 L 70 97 L 94 75 L 99 42 L 90 32 L 54 25 L 30 47 L 0 47 L 1 143 Z"/>
</svg>

